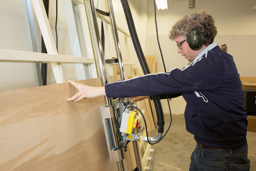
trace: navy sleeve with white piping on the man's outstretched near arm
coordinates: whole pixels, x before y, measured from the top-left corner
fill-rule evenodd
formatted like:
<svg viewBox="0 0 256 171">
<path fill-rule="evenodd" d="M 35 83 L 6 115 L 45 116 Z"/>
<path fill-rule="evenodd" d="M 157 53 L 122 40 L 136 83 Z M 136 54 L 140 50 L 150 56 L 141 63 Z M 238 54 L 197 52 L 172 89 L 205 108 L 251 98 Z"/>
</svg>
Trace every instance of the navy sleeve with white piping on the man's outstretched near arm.
<svg viewBox="0 0 256 171">
<path fill-rule="evenodd" d="M 216 55 L 202 57 L 193 65 L 167 73 L 148 74 L 105 84 L 107 97 L 162 95 L 214 90 L 223 80 L 224 64 Z"/>
</svg>

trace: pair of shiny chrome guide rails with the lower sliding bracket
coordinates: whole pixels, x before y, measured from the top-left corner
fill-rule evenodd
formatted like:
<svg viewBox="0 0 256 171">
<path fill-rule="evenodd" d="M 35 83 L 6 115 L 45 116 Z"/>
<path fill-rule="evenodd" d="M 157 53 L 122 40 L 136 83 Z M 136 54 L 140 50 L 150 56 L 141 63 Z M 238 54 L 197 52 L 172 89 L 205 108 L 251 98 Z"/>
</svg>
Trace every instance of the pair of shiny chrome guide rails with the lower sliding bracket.
<svg viewBox="0 0 256 171">
<path fill-rule="evenodd" d="M 87 2 L 87 12 L 90 19 L 90 25 L 92 28 L 92 37 L 94 40 L 94 47 L 96 51 L 97 61 L 98 61 L 98 69 L 101 77 L 102 86 L 108 83 L 108 74 L 106 72 L 105 66 L 105 59 L 104 59 L 104 52 L 102 48 L 102 43 L 99 35 L 99 29 L 97 24 L 97 17 L 96 17 L 96 10 L 94 7 L 93 0 L 86 0 Z M 115 41 L 115 48 L 116 48 L 116 55 L 118 58 L 118 66 L 120 77 L 122 80 L 125 80 L 125 73 L 123 70 L 123 62 L 122 56 L 120 51 L 119 39 L 117 34 L 117 28 L 115 23 L 115 17 L 112 7 L 112 1 L 108 0 L 108 7 L 109 7 L 109 14 L 111 20 L 111 29 L 113 34 L 113 39 Z M 108 144 L 109 155 L 112 162 L 116 161 L 118 163 L 118 169 L 124 170 L 123 166 L 123 159 L 124 159 L 124 152 L 123 147 L 120 144 L 120 135 L 118 132 L 117 127 L 117 109 L 116 106 L 113 104 L 111 98 L 105 97 L 105 106 L 101 108 L 101 115 L 102 115 L 102 122 L 105 131 L 106 142 Z M 136 156 L 136 163 L 138 170 L 142 170 L 142 165 L 139 156 L 139 148 L 138 142 L 133 141 L 135 147 L 135 156 Z"/>
</svg>

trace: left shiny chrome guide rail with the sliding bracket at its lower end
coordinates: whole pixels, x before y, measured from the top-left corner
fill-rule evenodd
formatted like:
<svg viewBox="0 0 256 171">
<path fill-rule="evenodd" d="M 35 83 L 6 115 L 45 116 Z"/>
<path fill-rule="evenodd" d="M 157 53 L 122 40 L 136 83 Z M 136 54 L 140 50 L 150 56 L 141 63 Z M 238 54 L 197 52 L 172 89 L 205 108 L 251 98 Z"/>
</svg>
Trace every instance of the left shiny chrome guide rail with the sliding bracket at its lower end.
<svg viewBox="0 0 256 171">
<path fill-rule="evenodd" d="M 90 20 L 90 25 L 92 28 L 92 36 L 94 41 L 94 47 L 95 47 L 95 53 L 97 56 L 97 63 L 98 63 L 98 70 L 100 73 L 100 78 L 102 82 L 102 86 L 104 86 L 106 83 L 108 83 L 108 74 L 106 72 L 106 66 L 105 66 L 105 59 L 104 59 L 104 52 L 103 47 L 99 35 L 99 29 L 98 29 L 98 23 L 97 23 L 97 17 L 96 17 L 96 10 L 94 7 L 93 0 L 86 0 L 86 6 L 87 6 L 87 12 L 88 17 Z M 111 158 L 111 161 L 117 161 L 117 166 L 120 171 L 124 170 L 124 165 L 122 159 L 124 158 L 124 153 L 122 151 L 122 148 L 120 147 L 119 142 L 119 134 L 117 131 L 116 123 L 116 108 L 114 105 L 112 105 L 111 98 L 105 97 L 105 104 L 106 106 L 103 106 L 101 108 L 101 114 L 102 114 L 102 121 L 105 131 L 105 137 L 106 142 L 108 144 L 109 148 L 109 155 Z"/>
</svg>

